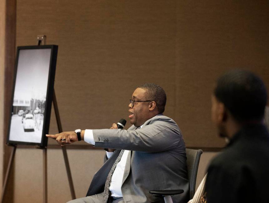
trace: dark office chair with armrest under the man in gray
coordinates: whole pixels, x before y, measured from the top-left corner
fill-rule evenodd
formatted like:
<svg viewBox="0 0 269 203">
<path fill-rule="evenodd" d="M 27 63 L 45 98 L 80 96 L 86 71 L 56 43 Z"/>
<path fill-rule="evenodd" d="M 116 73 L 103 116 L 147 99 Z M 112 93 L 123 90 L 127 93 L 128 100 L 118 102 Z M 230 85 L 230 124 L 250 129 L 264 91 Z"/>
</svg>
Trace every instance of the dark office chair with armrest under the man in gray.
<svg viewBox="0 0 269 203">
<path fill-rule="evenodd" d="M 188 171 L 188 181 L 189 181 L 189 196 L 190 200 L 193 198 L 195 193 L 196 177 L 198 172 L 198 166 L 202 149 L 186 149 L 187 155 L 187 171 Z M 151 190 L 150 194 L 163 196 L 165 203 L 173 203 L 171 195 L 178 195 L 183 193 L 183 190 Z"/>
</svg>

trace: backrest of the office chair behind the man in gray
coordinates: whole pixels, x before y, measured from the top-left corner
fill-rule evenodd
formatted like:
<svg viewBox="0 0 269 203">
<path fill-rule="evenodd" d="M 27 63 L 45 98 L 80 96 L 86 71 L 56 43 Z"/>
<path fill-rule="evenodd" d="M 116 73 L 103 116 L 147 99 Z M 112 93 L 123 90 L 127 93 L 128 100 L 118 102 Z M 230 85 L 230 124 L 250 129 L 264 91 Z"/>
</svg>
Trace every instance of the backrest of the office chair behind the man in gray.
<svg viewBox="0 0 269 203">
<path fill-rule="evenodd" d="M 196 177 L 202 153 L 202 149 L 186 149 L 190 200 L 193 198 L 195 193 Z"/>
</svg>

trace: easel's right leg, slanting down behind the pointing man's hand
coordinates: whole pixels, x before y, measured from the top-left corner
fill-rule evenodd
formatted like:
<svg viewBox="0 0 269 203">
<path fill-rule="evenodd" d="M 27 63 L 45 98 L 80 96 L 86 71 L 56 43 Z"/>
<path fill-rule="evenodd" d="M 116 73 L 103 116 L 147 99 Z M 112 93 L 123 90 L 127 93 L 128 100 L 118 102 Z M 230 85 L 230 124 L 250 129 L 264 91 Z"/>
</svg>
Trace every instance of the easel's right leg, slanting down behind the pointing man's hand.
<svg viewBox="0 0 269 203">
<path fill-rule="evenodd" d="M 63 130 L 62 130 L 62 125 L 61 125 L 60 114 L 59 114 L 59 109 L 58 109 L 58 105 L 57 105 L 55 90 L 53 90 L 52 101 L 53 101 L 58 130 L 59 130 L 59 133 L 61 133 Z M 74 200 L 74 199 L 76 199 L 76 195 L 75 195 L 74 184 L 73 184 L 73 180 L 72 180 L 72 176 L 71 176 L 71 170 L 70 170 L 69 161 L 68 161 L 65 146 L 62 147 L 62 151 L 63 151 L 63 156 L 64 156 L 64 160 L 65 160 L 65 165 L 66 165 L 66 172 L 67 172 L 68 182 L 69 182 L 69 186 L 70 186 L 71 196 L 72 196 L 72 200 Z"/>
</svg>

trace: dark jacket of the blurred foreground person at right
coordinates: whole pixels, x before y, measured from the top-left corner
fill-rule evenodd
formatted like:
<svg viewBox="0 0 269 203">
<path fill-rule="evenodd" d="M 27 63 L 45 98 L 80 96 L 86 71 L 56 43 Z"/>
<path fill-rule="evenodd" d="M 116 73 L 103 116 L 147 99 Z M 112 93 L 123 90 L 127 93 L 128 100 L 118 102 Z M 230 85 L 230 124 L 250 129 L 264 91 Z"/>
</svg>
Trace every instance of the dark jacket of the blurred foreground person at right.
<svg viewBox="0 0 269 203">
<path fill-rule="evenodd" d="M 264 125 L 248 125 L 213 159 L 206 180 L 207 202 L 268 203 L 269 134 Z"/>
</svg>

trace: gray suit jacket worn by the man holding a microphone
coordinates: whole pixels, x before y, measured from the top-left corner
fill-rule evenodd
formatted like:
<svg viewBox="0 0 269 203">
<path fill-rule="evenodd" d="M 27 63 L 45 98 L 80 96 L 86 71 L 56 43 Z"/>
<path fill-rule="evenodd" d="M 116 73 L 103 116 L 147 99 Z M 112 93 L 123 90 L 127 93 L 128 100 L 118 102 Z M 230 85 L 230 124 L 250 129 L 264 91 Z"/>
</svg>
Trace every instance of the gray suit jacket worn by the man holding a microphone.
<svg viewBox="0 0 269 203">
<path fill-rule="evenodd" d="M 149 194 L 149 190 L 183 189 L 184 193 L 172 196 L 174 202 L 187 202 L 189 183 L 185 143 L 178 125 L 167 116 L 147 120 L 143 128 L 135 130 L 93 130 L 95 146 L 119 149 L 95 173 L 87 196 L 104 191 L 105 179 L 120 149 L 129 152 L 122 195 L 125 202 L 163 202 Z"/>
</svg>

